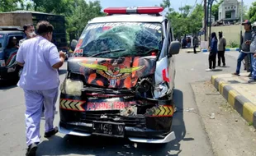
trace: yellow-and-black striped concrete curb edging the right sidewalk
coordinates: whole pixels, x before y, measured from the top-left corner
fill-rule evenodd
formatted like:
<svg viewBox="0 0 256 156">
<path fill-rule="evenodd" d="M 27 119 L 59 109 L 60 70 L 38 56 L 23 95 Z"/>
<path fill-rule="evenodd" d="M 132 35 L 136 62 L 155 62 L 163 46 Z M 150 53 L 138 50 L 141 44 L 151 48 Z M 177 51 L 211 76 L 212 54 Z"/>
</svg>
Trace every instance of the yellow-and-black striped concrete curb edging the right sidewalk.
<svg viewBox="0 0 256 156">
<path fill-rule="evenodd" d="M 224 80 L 218 78 L 218 76 L 211 76 L 211 84 L 215 86 L 228 103 L 230 103 L 249 124 L 253 124 L 254 128 L 256 128 L 256 106 L 254 103 L 239 94 L 230 85 L 226 84 Z"/>
</svg>

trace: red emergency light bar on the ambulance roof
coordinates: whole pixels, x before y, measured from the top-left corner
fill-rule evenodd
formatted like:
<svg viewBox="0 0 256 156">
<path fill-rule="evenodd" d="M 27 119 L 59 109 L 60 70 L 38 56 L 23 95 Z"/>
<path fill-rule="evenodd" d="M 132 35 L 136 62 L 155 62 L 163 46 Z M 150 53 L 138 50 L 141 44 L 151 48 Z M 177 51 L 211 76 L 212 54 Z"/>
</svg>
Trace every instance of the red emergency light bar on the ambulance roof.
<svg viewBox="0 0 256 156">
<path fill-rule="evenodd" d="M 163 7 L 107 7 L 104 12 L 111 14 L 159 14 L 164 11 Z"/>
</svg>

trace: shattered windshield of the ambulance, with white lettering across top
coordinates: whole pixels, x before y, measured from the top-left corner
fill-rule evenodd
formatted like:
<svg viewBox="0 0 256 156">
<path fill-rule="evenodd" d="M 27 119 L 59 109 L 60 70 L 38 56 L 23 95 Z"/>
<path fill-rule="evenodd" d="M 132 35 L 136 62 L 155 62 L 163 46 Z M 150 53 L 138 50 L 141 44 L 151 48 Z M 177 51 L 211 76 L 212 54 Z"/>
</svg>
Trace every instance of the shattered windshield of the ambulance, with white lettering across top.
<svg viewBox="0 0 256 156">
<path fill-rule="evenodd" d="M 162 48 L 159 23 L 116 22 L 89 24 L 78 41 L 75 53 L 83 57 L 143 56 Z"/>
</svg>

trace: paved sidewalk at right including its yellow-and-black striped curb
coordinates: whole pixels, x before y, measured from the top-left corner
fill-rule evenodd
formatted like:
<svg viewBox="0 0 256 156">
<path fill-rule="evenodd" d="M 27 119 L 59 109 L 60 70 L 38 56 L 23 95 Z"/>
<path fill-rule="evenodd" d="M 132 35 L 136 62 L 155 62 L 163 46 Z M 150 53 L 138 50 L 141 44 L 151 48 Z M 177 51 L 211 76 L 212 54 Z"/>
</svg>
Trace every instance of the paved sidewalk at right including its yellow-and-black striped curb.
<svg viewBox="0 0 256 156">
<path fill-rule="evenodd" d="M 249 73 L 240 76 L 211 76 L 211 83 L 244 119 L 256 128 L 256 83 L 248 83 Z"/>
</svg>

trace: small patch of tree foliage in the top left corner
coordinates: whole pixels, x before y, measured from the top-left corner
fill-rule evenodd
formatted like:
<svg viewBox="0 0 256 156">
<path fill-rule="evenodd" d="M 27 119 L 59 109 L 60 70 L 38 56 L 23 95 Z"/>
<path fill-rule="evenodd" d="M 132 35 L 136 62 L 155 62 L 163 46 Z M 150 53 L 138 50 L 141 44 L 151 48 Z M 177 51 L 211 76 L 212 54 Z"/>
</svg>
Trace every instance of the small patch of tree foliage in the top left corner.
<svg viewBox="0 0 256 156">
<path fill-rule="evenodd" d="M 17 10 L 17 2 L 22 2 L 22 0 L 1 0 L 0 1 L 0 11 L 15 11 Z"/>
</svg>

